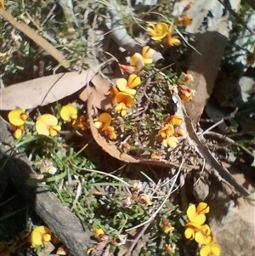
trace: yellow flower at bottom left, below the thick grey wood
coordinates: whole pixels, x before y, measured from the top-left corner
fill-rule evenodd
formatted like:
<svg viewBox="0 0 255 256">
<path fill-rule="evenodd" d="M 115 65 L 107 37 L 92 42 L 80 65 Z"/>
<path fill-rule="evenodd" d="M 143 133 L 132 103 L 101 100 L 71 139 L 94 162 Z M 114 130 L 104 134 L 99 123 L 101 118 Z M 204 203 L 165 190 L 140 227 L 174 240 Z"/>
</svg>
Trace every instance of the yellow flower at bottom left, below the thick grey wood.
<svg viewBox="0 0 255 256">
<path fill-rule="evenodd" d="M 51 231 L 43 225 L 37 226 L 37 228 L 31 231 L 29 240 L 31 247 L 45 246 L 51 240 Z"/>
</svg>

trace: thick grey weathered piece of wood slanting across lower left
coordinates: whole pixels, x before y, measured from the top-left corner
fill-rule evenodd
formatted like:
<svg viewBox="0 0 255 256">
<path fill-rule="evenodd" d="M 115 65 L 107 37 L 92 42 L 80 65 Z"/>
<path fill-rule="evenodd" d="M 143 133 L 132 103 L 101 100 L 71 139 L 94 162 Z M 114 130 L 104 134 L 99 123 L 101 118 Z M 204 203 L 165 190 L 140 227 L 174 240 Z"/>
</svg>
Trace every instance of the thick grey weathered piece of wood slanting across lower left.
<svg viewBox="0 0 255 256">
<path fill-rule="evenodd" d="M 14 139 L 8 132 L 6 123 L 0 117 L 0 166 L 12 179 L 18 191 L 34 208 L 36 213 L 63 242 L 74 256 L 88 255 L 88 247 L 92 247 L 91 232 L 83 227 L 80 220 L 70 209 L 59 202 L 54 195 L 42 187 L 26 185 L 28 178 L 37 174 L 32 170 L 25 154 L 13 150 Z M 85 228 L 85 230 L 84 230 Z"/>
</svg>

